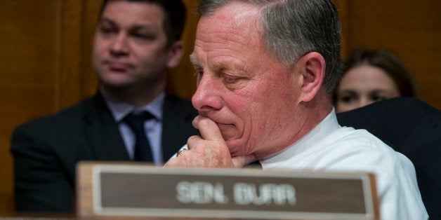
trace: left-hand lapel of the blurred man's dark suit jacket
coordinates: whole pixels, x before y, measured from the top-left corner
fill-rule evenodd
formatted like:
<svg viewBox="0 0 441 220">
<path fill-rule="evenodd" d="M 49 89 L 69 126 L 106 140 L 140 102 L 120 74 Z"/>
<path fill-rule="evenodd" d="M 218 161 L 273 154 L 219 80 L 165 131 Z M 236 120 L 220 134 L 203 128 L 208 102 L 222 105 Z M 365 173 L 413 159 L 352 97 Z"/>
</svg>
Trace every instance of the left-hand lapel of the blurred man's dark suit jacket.
<svg viewBox="0 0 441 220">
<path fill-rule="evenodd" d="M 98 92 L 84 109 L 84 133 L 96 160 L 130 160 L 117 123 Z"/>
</svg>

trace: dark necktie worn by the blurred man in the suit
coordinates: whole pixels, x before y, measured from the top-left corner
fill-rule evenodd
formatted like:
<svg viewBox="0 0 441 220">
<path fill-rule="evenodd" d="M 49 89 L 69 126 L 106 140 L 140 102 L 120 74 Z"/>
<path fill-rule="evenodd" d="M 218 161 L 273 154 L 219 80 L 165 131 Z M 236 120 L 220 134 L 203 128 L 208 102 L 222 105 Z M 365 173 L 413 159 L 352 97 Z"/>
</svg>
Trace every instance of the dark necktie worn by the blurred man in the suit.
<svg viewBox="0 0 441 220">
<path fill-rule="evenodd" d="M 150 142 L 145 136 L 144 122 L 152 119 L 154 116 L 148 111 L 143 111 L 140 114 L 128 114 L 123 120 L 129 125 L 133 133 L 135 133 L 135 150 L 133 160 L 153 162 L 152 149 Z"/>
</svg>

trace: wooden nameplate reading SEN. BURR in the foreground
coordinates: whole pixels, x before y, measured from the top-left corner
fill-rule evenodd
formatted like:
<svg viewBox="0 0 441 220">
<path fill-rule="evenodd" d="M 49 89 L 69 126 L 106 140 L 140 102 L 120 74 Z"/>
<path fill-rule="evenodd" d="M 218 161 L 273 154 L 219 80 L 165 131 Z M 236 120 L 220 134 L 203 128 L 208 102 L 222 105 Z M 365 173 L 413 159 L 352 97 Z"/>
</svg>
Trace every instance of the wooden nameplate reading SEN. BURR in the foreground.
<svg viewBox="0 0 441 220">
<path fill-rule="evenodd" d="M 78 170 L 79 216 L 378 219 L 369 173 L 93 163 Z"/>
</svg>

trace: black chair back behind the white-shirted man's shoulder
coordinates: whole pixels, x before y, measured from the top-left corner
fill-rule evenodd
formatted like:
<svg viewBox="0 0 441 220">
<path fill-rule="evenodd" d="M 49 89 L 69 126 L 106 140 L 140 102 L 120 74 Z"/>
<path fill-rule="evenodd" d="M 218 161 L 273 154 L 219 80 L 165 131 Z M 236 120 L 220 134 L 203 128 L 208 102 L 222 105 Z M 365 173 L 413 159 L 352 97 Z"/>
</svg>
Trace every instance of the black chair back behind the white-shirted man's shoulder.
<svg viewBox="0 0 441 220">
<path fill-rule="evenodd" d="M 414 163 L 430 219 L 441 219 L 441 111 L 397 97 L 337 114 L 338 123 L 366 129 Z"/>
</svg>

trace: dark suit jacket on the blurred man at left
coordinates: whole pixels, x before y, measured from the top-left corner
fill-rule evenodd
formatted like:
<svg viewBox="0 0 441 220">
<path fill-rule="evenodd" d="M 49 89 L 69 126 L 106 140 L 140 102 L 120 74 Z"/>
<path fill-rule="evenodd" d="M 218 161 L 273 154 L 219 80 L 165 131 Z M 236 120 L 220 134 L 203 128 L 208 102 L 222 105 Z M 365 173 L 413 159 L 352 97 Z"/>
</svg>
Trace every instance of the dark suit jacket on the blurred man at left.
<svg viewBox="0 0 441 220">
<path fill-rule="evenodd" d="M 164 102 L 164 161 L 191 135 L 197 111 L 178 97 Z M 80 160 L 130 160 L 117 123 L 98 92 L 57 114 L 18 126 L 11 151 L 18 212 L 74 211 L 75 165 Z"/>
</svg>

